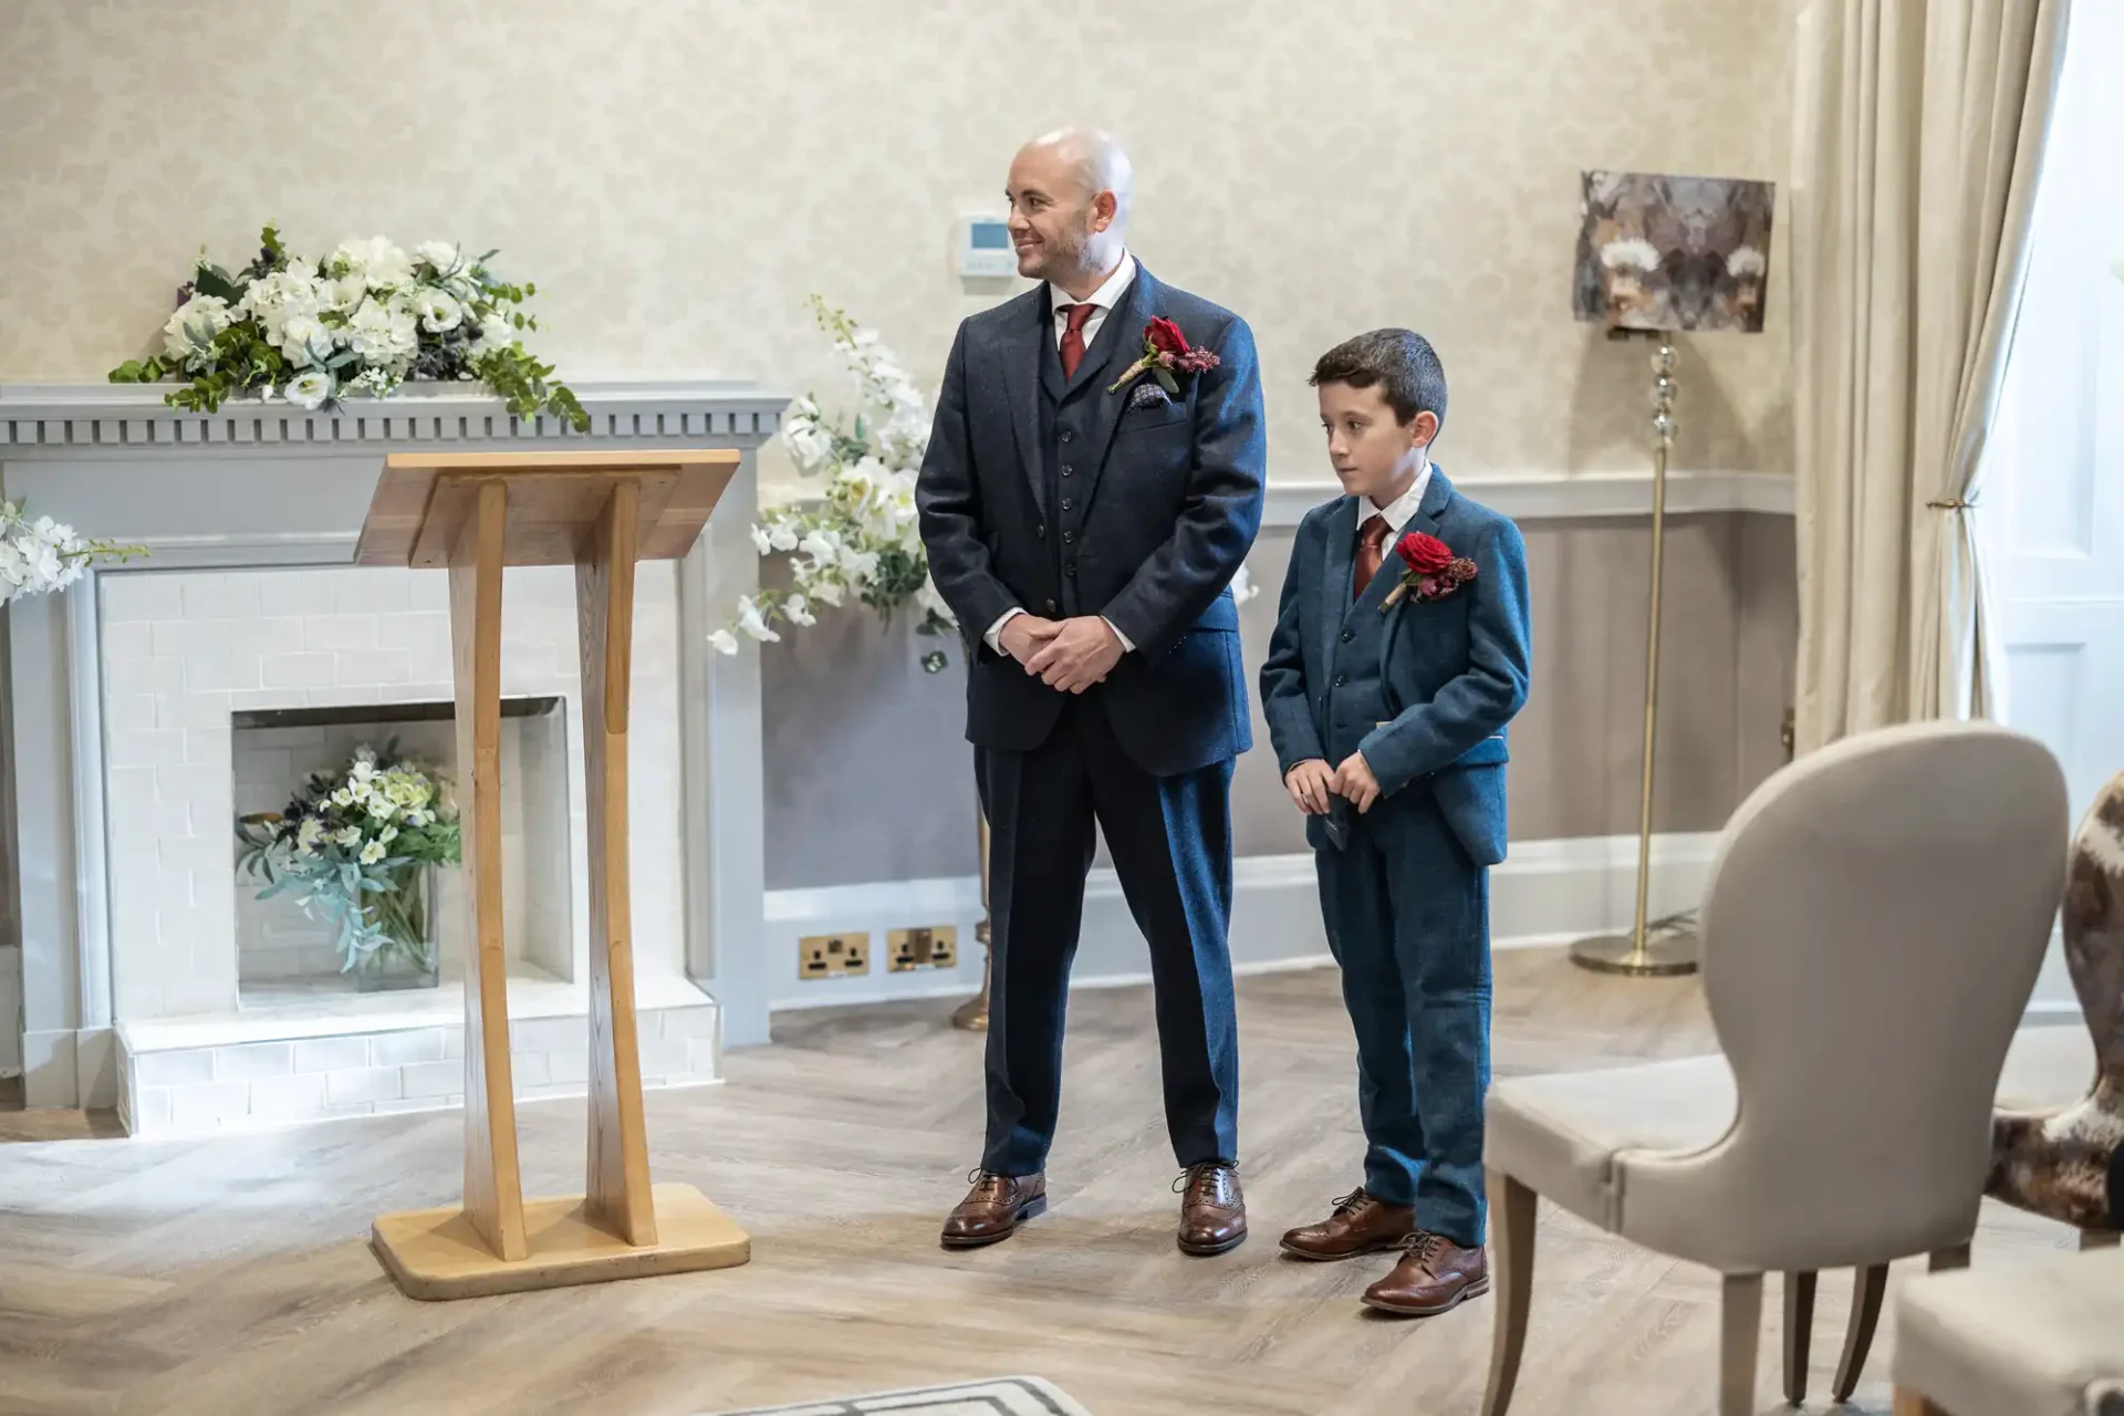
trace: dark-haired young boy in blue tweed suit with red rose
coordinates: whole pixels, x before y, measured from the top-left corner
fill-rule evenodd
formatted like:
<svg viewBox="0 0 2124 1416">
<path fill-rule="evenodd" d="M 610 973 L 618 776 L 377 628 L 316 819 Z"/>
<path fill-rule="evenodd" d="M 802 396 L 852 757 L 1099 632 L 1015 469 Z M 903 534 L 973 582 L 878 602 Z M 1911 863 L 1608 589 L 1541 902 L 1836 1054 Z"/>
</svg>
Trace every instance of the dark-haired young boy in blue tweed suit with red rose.
<svg viewBox="0 0 2124 1416">
<path fill-rule="evenodd" d="M 1489 1291 L 1489 866 L 1504 726 L 1527 701 L 1527 556 L 1429 461 L 1446 376 L 1423 335 L 1357 335 L 1311 382 L 1349 495 L 1298 526 L 1262 701 L 1357 1028 L 1366 1157 L 1283 1248 L 1402 1250 L 1364 1301 L 1432 1316 Z"/>
</svg>

